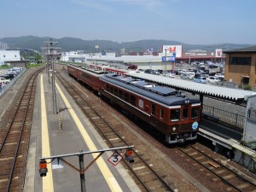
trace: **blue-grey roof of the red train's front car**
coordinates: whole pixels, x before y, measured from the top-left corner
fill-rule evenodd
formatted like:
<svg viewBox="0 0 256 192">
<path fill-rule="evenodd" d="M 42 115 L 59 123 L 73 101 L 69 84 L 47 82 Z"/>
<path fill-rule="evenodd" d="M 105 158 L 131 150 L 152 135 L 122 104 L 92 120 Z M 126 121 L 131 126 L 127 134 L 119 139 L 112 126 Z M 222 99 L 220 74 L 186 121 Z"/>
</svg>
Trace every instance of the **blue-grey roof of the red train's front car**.
<svg viewBox="0 0 256 192">
<path fill-rule="evenodd" d="M 136 92 L 141 96 L 148 97 L 156 102 L 164 103 L 168 106 L 181 105 L 186 103 L 198 103 L 199 99 L 194 96 L 185 96 L 181 91 L 170 87 L 160 86 L 144 81 L 143 79 L 133 79 L 131 77 L 119 76 L 108 73 L 100 77 L 105 82 L 117 85 L 126 90 Z"/>
</svg>

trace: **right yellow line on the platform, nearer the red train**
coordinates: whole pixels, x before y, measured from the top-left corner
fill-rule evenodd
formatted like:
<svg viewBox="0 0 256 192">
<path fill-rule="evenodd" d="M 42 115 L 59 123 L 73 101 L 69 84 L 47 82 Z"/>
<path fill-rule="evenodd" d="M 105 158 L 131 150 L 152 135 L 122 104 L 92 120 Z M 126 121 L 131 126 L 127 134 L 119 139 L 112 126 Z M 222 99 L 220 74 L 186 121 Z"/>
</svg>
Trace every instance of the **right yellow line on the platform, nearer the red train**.
<svg viewBox="0 0 256 192">
<path fill-rule="evenodd" d="M 80 119 L 77 116 L 77 114 L 74 112 L 74 110 L 73 110 L 72 106 L 70 105 L 70 103 L 67 101 L 67 97 L 64 96 L 60 86 L 57 83 L 55 83 L 55 84 L 56 84 L 56 88 L 58 89 L 58 91 L 59 91 L 63 101 L 66 104 L 66 107 L 68 108 L 69 113 L 71 114 L 71 116 L 73 117 L 74 122 L 78 126 L 79 131 L 80 131 L 82 137 L 84 137 L 84 142 L 86 143 L 86 145 L 88 146 L 90 151 L 97 150 L 95 144 L 90 139 L 90 136 L 88 135 L 87 131 L 84 129 L 84 125 L 80 121 Z M 94 158 L 96 158 L 96 156 L 98 154 L 92 154 L 92 155 L 93 155 Z M 105 180 L 107 181 L 108 186 L 111 189 L 111 191 L 123 191 L 120 188 L 119 183 L 116 181 L 115 177 L 113 177 L 112 172 L 110 172 L 110 170 L 108 169 L 108 166 L 105 163 L 105 161 L 102 159 L 102 157 L 100 157 L 98 160 L 96 160 L 96 164 L 99 166 L 99 169 L 102 172 L 103 177 L 105 177 Z"/>
</svg>

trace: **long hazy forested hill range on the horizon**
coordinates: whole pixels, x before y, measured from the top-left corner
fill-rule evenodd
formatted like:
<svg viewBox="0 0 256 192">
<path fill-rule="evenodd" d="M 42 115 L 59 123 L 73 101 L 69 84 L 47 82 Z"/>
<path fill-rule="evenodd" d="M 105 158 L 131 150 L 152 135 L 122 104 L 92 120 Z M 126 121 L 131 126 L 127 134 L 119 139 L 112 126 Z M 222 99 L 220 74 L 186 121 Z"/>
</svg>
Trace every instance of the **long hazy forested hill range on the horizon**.
<svg viewBox="0 0 256 192">
<path fill-rule="evenodd" d="M 9 49 L 26 48 L 36 49 L 41 51 L 41 47 L 44 41 L 49 41 L 50 38 L 39 38 L 35 36 L 25 36 L 19 38 L 0 38 L 0 42 L 7 43 Z M 53 38 L 54 41 L 59 42 L 58 47 L 61 51 L 69 50 L 84 50 L 85 53 L 93 53 L 96 51 L 107 50 L 109 52 L 119 52 L 119 49 L 125 48 L 127 52 L 143 52 L 148 48 L 154 48 L 154 51 L 161 51 L 162 45 L 183 45 L 183 50 L 189 49 L 204 49 L 208 51 L 214 51 L 215 49 L 240 49 L 244 47 L 253 46 L 253 44 L 184 44 L 177 41 L 167 40 L 140 40 L 135 42 L 118 43 L 108 40 L 83 40 L 80 38 Z M 99 49 L 96 50 L 96 45 L 99 45 Z"/>
</svg>

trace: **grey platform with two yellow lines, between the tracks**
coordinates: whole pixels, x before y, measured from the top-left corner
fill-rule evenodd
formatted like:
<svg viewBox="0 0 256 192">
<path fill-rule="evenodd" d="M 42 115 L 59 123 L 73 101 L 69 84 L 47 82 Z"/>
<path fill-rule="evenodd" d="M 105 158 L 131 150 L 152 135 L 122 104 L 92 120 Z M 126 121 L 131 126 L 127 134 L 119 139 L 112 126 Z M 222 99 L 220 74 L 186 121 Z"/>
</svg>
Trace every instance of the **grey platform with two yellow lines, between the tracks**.
<svg viewBox="0 0 256 192">
<path fill-rule="evenodd" d="M 47 175 L 40 177 L 39 158 L 108 146 L 58 81 L 55 85 L 59 115 L 54 114 L 52 84 L 47 75 L 39 75 L 37 84 L 24 191 L 81 191 L 79 172 L 63 162 L 48 160 Z M 86 191 L 140 191 L 121 163 L 113 166 L 108 161 L 111 154 L 113 152 L 102 154 L 85 172 Z M 84 167 L 94 159 L 92 154 L 84 155 Z M 65 160 L 79 169 L 78 156 Z"/>
</svg>

